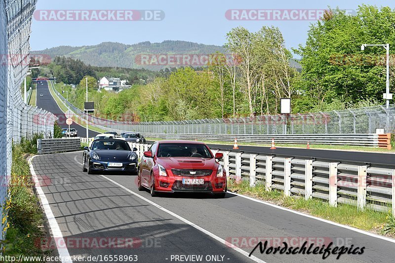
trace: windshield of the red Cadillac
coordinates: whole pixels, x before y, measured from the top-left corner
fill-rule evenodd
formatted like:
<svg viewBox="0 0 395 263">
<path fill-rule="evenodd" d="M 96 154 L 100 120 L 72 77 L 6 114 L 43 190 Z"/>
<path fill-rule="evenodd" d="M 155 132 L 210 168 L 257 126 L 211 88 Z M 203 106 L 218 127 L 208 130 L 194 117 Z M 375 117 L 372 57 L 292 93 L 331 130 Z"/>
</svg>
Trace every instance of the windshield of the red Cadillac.
<svg viewBox="0 0 395 263">
<path fill-rule="evenodd" d="M 158 157 L 212 158 L 203 144 L 159 144 Z"/>
</svg>

